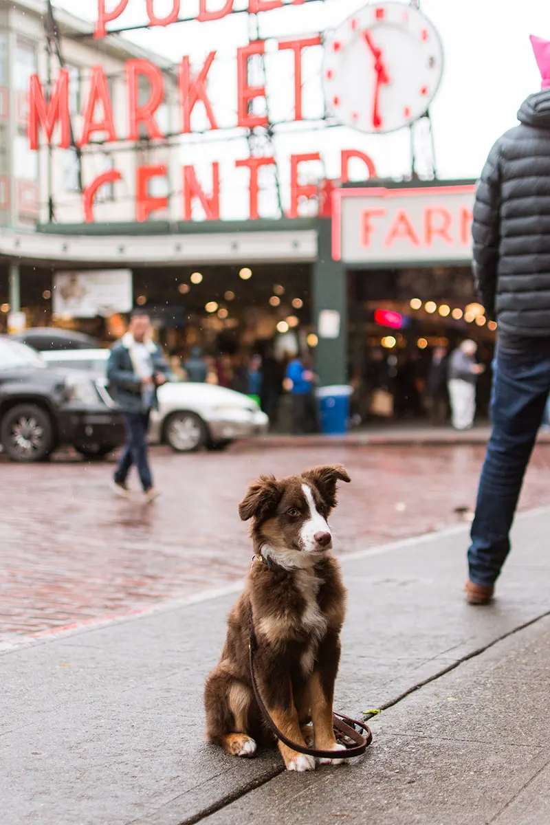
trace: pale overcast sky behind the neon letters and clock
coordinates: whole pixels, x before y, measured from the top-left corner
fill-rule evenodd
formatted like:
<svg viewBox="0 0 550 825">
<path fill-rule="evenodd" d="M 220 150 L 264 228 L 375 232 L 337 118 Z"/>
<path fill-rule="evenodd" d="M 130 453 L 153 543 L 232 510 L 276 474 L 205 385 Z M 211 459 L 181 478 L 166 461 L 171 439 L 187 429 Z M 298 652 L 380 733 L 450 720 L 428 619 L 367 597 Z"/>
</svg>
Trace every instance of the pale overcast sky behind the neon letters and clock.
<svg viewBox="0 0 550 825">
<path fill-rule="evenodd" d="M 96 0 L 55 0 L 74 14 L 96 16 Z M 114 0 L 110 7 L 114 5 Z M 222 5 L 211 0 L 209 7 Z M 235 0 L 235 8 L 247 0 Z M 261 35 L 288 37 L 324 31 L 336 26 L 358 9 L 365 0 L 325 0 L 303 6 L 265 12 L 260 16 Z M 197 0 L 182 0 L 181 11 L 195 12 Z M 108 6 L 109 7 L 109 6 Z M 172 8 L 172 0 L 157 0 L 160 16 Z M 421 0 L 421 11 L 439 31 L 444 45 L 444 78 L 431 106 L 435 134 L 435 154 L 440 178 L 477 177 L 487 152 L 502 131 L 515 125 L 519 104 L 540 86 L 538 68 L 529 43 L 529 34 L 550 40 L 548 0 Z M 144 0 L 129 0 L 124 19 L 127 23 L 145 21 Z M 210 23 L 183 23 L 170 28 L 140 31 L 131 36 L 174 62 L 183 54 L 200 65 L 209 50 L 219 51 L 211 72 L 211 93 L 219 121 L 230 125 L 234 120 L 234 56 L 238 45 L 247 42 L 247 15 L 228 16 Z M 322 50 L 310 50 L 304 60 L 304 110 L 317 115 L 322 111 L 320 62 Z M 294 106 L 291 83 L 292 60 L 289 53 L 270 59 L 268 91 L 270 114 L 288 117 Z M 219 136 L 219 135 L 218 135 Z M 214 137 L 214 135 L 212 135 Z M 275 150 L 280 161 L 283 185 L 288 183 L 288 157 L 293 152 L 320 151 L 328 177 L 337 177 L 341 148 L 361 148 L 374 159 L 383 176 L 407 175 L 410 165 L 408 130 L 389 135 L 364 135 L 346 128 L 307 131 L 295 134 L 294 128 L 277 138 Z M 200 148 L 186 149 L 187 162 L 200 168 L 214 159 L 233 160 L 247 156 L 243 139 L 231 143 L 201 142 Z M 206 168 L 206 167 L 204 167 Z M 314 170 L 312 170 L 314 171 Z M 227 200 L 240 195 L 245 173 L 232 173 L 226 187 Z M 245 209 L 239 196 L 237 211 Z M 232 210 L 233 211 L 233 210 Z M 223 209 L 226 212 L 226 209 Z M 242 215 L 244 216 L 244 215 Z"/>
</svg>

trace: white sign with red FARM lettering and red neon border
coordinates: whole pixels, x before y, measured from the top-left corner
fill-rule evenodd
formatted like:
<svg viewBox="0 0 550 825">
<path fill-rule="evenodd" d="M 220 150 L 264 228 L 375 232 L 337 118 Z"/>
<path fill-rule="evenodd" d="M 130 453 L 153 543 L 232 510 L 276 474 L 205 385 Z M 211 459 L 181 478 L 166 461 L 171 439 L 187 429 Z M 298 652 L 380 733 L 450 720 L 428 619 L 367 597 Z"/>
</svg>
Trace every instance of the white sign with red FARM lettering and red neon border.
<svg viewBox="0 0 550 825">
<path fill-rule="evenodd" d="M 339 189 L 332 257 L 346 263 L 468 262 L 476 187 Z"/>
</svg>

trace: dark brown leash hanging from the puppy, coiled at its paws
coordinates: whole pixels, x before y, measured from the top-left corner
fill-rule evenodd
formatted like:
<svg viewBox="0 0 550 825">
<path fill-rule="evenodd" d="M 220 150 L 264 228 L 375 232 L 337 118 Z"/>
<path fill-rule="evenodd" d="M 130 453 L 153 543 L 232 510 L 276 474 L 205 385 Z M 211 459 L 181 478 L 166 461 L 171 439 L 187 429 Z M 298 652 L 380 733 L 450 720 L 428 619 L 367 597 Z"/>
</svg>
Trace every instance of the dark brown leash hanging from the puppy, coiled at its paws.
<svg viewBox="0 0 550 825">
<path fill-rule="evenodd" d="M 271 719 L 269 711 L 264 704 L 264 700 L 261 698 L 260 689 L 256 681 L 254 656 L 258 649 L 258 641 L 254 631 L 254 620 L 251 605 L 248 608 L 248 632 L 250 676 L 254 695 L 256 696 L 256 702 L 261 710 L 261 714 L 263 714 L 264 719 L 266 719 L 267 724 L 270 726 L 272 732 L 275 733 L 275 736 L 280 739 L 280 742 L 283 742 L 284 745 L 292 748 L 293 751 L 305 753 L 309 757 L 318 757 L 320 759 L 351 759 L 352 757 L 362 756 L 367 747 L 369 747 L 369 744 L 373 741 L 373 734 L 371 733 L 369 725 L 364 724 L 364 722 L 360 722 L 358 719 L 351 719 L 350 716 L 346 716 L 346 714 L 336 713 L 336 711 L 332 714 L 334 735 L 337 742 L 346 746 L 346 751 L 320 751 L 314 747 L 299 745 L 298 742 L 293 742 L 291 739 L 284 736 L 284 733 L 279 730 L 273 719 Z M 361 731 L 363 731 L 366 735 L 364 736 L 363 733 L 360 733 Z M 350 742 L 355 742 L 355 744 L 350 744 Z"/>
</svg>

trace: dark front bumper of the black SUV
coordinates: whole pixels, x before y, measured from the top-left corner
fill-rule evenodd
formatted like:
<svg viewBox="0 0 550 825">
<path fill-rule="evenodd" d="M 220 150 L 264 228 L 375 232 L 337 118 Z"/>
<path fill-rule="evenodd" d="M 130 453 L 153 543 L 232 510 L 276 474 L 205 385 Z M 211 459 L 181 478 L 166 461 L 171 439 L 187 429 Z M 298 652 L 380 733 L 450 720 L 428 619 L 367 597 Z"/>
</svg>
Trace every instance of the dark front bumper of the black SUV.
<svg viewBox="0 0 550 825">
<path fill-rule="evenodd" d="M 76 404 L 64 407 L 59 414 L 58 430 L 63 444 L 120 446 L 126 438 L 120 413 L 102 404 L 96 409 Z"/>
</svg>

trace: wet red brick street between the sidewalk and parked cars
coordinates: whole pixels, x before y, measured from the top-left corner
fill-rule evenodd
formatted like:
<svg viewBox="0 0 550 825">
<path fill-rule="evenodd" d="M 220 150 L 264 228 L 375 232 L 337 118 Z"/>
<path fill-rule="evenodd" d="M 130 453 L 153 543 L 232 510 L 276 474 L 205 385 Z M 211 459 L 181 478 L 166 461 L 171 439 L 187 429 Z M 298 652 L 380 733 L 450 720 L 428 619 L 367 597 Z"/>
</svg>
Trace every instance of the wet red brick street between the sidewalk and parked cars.
<svg viewBox="0 0 550 825">
<path fill-rule="evenodd" d="M 299 446 L 175 455 L 153 450 L 163 495 L 148 507 L 107 486 L 114 464 L 0 459 L 0 643 L 195 596 L 242 578 L 251 558 L 237 505 L 262 473 L 341 461 L 336 553 L 436 530 L 472 507 L 482 446 Z M 550 445 L 540 445 L 521 507 L 548 504 Z"/>
</svg>

